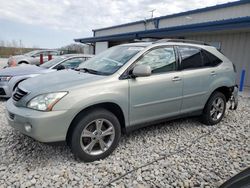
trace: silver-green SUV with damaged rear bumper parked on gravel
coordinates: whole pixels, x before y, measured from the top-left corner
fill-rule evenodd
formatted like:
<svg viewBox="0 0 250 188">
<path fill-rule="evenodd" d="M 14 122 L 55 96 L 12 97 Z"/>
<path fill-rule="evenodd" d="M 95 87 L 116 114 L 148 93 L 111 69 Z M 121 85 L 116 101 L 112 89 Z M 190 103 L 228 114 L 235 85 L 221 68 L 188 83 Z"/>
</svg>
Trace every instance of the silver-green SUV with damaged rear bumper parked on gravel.
<svg viewBox="0 0 250 188">
<path fill-rule="evenodd" d="M 84 161 L 108 156 L 121 133 L 197 115 L 206 125 L 237 106 L 236 71 L 216 48 L 161 40 L 112 47 L 82 64 L 37 76 L 7 101 L 9 124 L 41 142 L 66 141 Z"/>
</svg>

